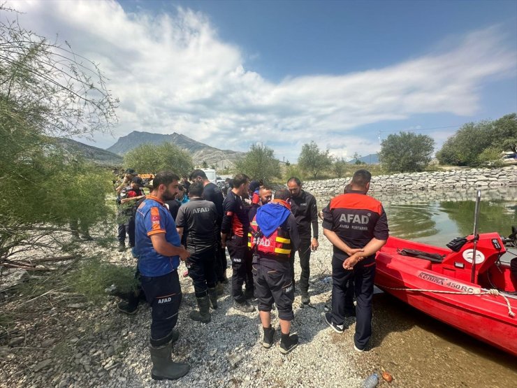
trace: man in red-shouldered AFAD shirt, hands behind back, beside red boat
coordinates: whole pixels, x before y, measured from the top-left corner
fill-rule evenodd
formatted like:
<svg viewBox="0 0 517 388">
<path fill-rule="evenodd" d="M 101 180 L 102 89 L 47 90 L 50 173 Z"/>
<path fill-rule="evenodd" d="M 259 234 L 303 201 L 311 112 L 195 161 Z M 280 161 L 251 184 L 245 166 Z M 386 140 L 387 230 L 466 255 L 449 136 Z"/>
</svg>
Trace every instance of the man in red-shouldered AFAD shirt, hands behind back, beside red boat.
<svg viewBox="0 0 517 388">
<path fill-rule="evenodd" d="M 332 257 L 332 311 L 327 324 L 337 333 L 344 331 L 345 298 L 349 278 L 354 278 L 357 298 L 354 349 L 365 350 L 372 336 L 372 296 L 375 253 L 388 239 L 388 220 L 382 204 L 367 196 L 372 175 L 354 173 L 351 190 L 335 196 L 323 209 L 323 233 L 334 245 Z"/>
</svg>

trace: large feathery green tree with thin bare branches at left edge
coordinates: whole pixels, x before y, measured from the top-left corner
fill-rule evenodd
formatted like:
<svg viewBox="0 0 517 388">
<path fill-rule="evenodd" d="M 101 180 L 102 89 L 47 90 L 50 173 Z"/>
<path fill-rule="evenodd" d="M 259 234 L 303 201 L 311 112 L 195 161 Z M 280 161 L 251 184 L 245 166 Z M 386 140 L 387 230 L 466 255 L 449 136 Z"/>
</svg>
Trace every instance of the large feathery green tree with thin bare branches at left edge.
<svg viewBox="0 0 517 388">
<path fill-rule="evenodd" d="M 70 221 L 107 217 L 109 175 L 54 140 L 110 131 L 115 108 L 96 64 L 0 21 L 0 261 L 59 246 L 53 233 Z"/>
</svg>

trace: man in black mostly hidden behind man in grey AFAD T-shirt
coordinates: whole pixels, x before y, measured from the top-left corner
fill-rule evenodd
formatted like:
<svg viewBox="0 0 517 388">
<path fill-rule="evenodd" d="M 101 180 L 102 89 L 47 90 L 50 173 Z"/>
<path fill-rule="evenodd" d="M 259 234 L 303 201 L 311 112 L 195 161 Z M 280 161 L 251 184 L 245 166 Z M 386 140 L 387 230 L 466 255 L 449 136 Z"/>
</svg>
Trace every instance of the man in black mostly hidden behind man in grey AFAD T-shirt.
<svg viewBox="0 0 517 388">
<path fill-rule="evenodd" d="M 203 199 L 213 202 L 215 210 L 217 210 L 217 246 L 215 252 L 215 274 L 217 275 L 217 294 L 221 295 L 224 292 L 223 284 L 228 283 L 226 278 L 226 252 L 224 247 L 221 247 L 221 222 L 223 222 L 223 201 L 224 196 L 221 189 L 208 180 L 205 171 L 194 170 L 190 174 L 192 182 L 203 182 Z"/>
</svg>

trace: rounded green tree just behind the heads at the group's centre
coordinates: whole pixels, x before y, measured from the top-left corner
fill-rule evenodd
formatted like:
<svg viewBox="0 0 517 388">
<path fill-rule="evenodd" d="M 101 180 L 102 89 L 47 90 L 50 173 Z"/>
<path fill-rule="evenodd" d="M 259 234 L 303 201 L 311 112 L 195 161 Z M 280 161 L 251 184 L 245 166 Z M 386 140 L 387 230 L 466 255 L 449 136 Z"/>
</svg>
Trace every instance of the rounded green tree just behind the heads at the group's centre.
<svg viewBox="0 0 517 388">
<path fill-rule="evenodd" d="M 280 162 L 275 158 L 275 152 L 265 145 L 254 144 L 246 155 L 235 161 L 235 170 L 245 173 L 252 179 L 262 179 L 270 182 L 272 178 L 280 178 Z"/>
</svg>

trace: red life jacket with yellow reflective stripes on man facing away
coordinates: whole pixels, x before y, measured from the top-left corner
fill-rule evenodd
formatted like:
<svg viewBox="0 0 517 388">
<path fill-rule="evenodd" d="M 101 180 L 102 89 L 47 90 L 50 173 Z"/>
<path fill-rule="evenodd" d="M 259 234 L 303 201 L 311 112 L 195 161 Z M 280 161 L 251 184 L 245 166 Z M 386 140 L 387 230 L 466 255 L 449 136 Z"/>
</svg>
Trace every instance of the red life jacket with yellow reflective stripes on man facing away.
<svg viewBox="0 0 517 388">
<path fill-rule="evenodd" d="M 249 229 L 248 247 L 271 256 L 289 259 L 291 256 L 291 239 L 288 231 L 278 227 L 271 236 L 265 237 L 256 223 L 256 216 L 249 224 Z"/>
</svg>

